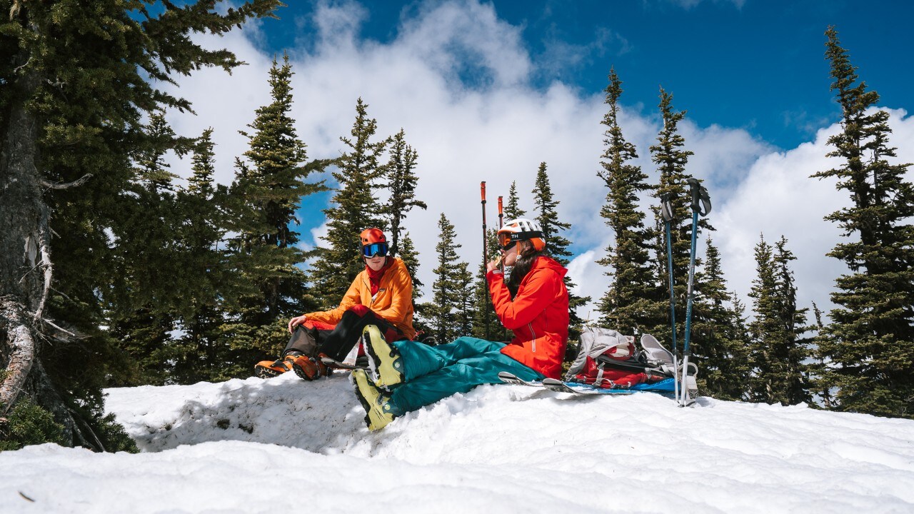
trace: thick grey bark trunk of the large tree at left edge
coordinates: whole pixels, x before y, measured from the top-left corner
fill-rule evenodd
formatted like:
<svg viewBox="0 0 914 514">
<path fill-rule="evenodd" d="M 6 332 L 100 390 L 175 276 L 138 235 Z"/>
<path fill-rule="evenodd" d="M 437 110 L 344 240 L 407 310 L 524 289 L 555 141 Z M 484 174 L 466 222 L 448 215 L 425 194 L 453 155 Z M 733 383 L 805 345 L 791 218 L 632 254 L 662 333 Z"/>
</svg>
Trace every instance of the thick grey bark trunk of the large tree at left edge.
<svg viewBox="0 0 914 514">
<path fill-rule="evenodd" d="M 27 63 L 27 55 L 19 60 Z M 70 444 L 98 448 L 83 436 L 40 363 L 52 265 L 49 211 L 38 171 L 39 122 L 26 105 L 39 83 L 35 70 L 25 70 L 10 84 L 15 100 L 0 127 L 0 416 L 26 394 L 65 426 Z"/>
</svg>

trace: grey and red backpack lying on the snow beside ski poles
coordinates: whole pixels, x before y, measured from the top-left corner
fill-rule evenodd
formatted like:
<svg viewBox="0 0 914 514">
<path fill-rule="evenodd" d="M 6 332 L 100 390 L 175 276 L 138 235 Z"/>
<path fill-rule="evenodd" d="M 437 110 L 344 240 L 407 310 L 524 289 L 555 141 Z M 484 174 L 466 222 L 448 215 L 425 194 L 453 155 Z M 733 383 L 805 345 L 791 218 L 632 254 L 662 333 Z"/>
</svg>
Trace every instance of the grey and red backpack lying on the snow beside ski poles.
<svg viewBox="0 0 914 514">
<path fill-rule="evenodd" d="M 633 336 L 611 328 L 586 327 L 580 335 L 578 358 L 565 380 L 621 389 L 672 377 L 673 354 L 649 334 L 640 342 L 639 347 Z"/>
</svg>

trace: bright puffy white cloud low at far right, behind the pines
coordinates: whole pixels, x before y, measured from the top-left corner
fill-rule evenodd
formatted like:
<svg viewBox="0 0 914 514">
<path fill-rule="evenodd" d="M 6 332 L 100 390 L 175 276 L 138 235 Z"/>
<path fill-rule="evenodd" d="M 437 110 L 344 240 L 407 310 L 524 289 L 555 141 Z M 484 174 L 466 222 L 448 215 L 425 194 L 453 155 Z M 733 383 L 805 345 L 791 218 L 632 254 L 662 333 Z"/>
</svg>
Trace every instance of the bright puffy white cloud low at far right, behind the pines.
<svg viewBox="0 0 914 514">
<path fill-rule="evenodd" d="M 892 161 L 914 162 L 914 119 L 901 110 L 887 111 L 891 113 L 889 125 L 894 131 L 891 144 L 898 146 L 898 159 Z M 842 165 L 840 159 L 825 157 L 834 150 L 826 145 L 828 137 L 839 130 L 837 124 L 824 127 L 811 143 L 783 153 L 762 155 L 714 214 L 713 223 L 718 231 L 715 244 L 721 250 L 730 287 L 740 294 L 749 292 L 755 277 L 752 252 L 760 233 L 770 243 L 783 235 L 788 250 L 797 257 L 792 269 L 800 305 L 811 307 L 815 302 L 826 312 L 834 306 L 829 299 L 834 279 L 847 269 L 843 262 L 826 257 L 825 253 L 845 238 L 836 224 L 823 218 L 849 206 L 850 195 L 835 189 L 834 179 L 810 176 Z M 914 180 L 912 168 L 908 180 Z"/>
</svg>

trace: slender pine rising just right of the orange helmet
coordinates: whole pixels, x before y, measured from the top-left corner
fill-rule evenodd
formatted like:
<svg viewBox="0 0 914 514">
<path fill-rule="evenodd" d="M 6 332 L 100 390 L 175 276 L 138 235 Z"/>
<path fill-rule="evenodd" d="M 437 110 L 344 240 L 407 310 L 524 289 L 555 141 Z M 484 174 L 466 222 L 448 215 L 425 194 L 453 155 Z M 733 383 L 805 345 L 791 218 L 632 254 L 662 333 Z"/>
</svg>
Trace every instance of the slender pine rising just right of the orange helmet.
<svg viewBox="0 0 914 514">
<path fill-rule="evenodd" d="M 419 154 L 406 144 L 406 133 L 400 129 L 393 137 L 390 146 L 390 160 L 387 165 L 388 191 L 390 199 L 385 210 L 390 214 L 390 254 L 399 252 L 399 234 L 402 230 L 403 219 L 414 207 L 422 210 L 428 209 L 425 202 L 416 199 L 416 185 L 419 177 L 416 176 L 416 163 Z"/>
</svg>

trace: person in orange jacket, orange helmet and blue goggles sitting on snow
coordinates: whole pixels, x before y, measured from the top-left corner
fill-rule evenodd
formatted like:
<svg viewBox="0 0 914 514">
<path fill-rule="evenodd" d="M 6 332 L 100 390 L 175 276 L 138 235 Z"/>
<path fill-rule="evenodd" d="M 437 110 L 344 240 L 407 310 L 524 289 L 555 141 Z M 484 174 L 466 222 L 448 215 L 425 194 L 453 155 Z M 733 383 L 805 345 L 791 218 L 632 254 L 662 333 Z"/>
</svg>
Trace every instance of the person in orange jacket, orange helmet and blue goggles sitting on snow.
<svg viewBox="0 0 914 514">
<path fill-rule="evenodd" d="M 356 275 L 340 305 L 289 320 L 289 344 L 280 359 L 262 360 L 254 366 L 259 377 L 294 371 L 305 380 L 320 378 L 327 374 L 321 357 L 344 360 L 368 325 L 379 327 L 389 341 L 416 337 L 412 278 L 406 264 L 388 256 L 388 240 L 381 230 L 363 230 L 359 240 L 365 270 Z"/>
</svg>

